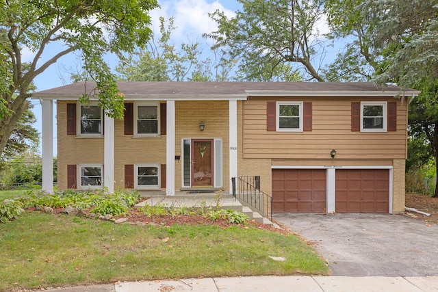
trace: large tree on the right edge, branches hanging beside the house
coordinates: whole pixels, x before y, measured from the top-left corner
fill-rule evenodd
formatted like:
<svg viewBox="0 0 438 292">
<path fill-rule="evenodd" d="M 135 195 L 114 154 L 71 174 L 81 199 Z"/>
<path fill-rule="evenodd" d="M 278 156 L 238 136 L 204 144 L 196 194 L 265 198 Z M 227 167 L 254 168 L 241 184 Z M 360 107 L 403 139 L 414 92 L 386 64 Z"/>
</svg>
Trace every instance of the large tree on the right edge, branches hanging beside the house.
<svg viewBox="0 0 438 292">
<path fill-rule="evenodd" d="M 409 127 L 417 137 L 426 137 L 437 161 L 438 0 L 368 0 L 363 7 L 374 15 L 370 45 L 382 50 L 385 58 L 375 80 L 422 90 L 411 104 Z M 434 197 L 438 198 L 437 188 Z"/>
</svg>

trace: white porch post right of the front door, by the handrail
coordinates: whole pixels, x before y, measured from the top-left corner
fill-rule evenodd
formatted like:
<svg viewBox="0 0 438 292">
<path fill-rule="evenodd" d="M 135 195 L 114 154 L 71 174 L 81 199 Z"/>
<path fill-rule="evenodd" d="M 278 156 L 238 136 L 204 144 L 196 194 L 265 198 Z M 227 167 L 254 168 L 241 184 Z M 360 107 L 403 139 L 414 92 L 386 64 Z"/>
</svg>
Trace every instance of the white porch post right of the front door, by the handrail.
<svg viewBox="0 0 438 292">
<path fill-rule="evenodd" d="M 229 194 L 233 194 L 231 178 L 237 177 L 237 101 L 229 101 Z"/>
</svg>

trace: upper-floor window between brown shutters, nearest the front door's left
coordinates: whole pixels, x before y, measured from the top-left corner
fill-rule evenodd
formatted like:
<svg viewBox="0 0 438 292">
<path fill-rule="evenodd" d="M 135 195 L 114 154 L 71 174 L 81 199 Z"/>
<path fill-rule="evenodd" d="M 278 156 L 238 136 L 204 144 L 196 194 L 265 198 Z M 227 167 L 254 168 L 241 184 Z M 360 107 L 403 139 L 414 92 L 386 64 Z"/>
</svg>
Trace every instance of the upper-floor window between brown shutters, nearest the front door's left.
<svg viewBox="0 0 438 292">
<path fill-rule="evenodd" d="M 137 135 L 159 135 L 159 103 L 136 103 L 134 116 Z"/>
</svg>

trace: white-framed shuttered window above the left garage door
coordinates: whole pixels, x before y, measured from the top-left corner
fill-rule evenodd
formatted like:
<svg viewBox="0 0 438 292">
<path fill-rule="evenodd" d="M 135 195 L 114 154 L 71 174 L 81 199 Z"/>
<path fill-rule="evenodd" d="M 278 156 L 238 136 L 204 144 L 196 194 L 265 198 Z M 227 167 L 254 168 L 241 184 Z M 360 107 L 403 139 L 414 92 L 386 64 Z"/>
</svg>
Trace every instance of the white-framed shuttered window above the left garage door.
<svg viewBox="0 0 438 292">
<path fill-rule="evenodd" d="M 278 102 L 276 104 L 277 131 L 302 131 L 302 103 Z"/>
</svg>

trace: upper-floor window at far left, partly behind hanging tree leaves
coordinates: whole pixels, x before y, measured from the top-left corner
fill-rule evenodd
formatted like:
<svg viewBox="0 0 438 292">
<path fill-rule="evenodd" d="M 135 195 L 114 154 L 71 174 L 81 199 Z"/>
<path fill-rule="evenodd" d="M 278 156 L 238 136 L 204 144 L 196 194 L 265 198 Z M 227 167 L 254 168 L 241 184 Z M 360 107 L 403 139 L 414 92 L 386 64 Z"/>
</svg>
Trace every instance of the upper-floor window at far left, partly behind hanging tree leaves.
<svg viewBox="0 0 438 292">
<path fill-rule="evenodd" d="M 103 111 L 98 105 L 80 105 L 79 129 L 81 135 L 102 135 Z"/>
</svg>

